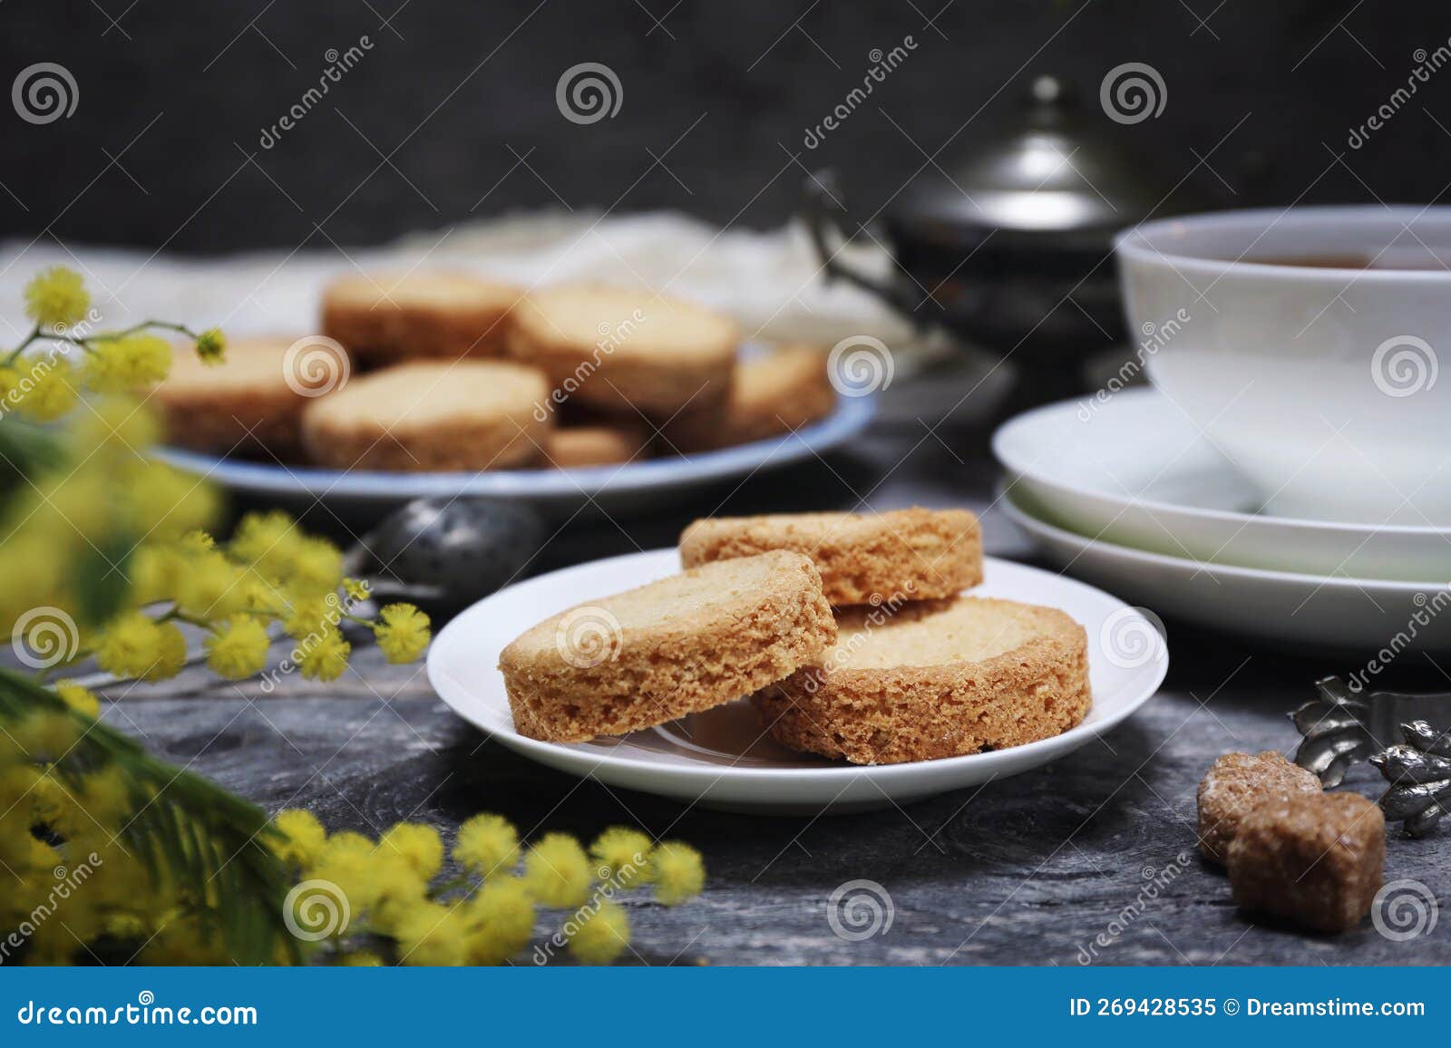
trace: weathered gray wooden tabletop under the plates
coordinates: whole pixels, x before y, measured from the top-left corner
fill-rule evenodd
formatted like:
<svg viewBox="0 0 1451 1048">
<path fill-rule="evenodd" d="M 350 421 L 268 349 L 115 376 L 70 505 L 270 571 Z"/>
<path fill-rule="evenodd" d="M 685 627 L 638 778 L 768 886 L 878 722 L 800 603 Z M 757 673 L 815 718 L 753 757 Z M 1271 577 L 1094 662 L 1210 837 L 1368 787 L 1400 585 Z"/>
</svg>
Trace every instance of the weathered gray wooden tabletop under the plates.
<svg viewBox="0 0 1451 1048">
<path fill-rule="evenodd" d="M 863 496 L 878 509 L 977 508 L 990 553 L 1030 559 L 990 508 L 997 470 L 985 430 L 916 421 L 929 395 L 898 392 L 868 438 L 826 463 L 757 475 L 647 520 L 573 525 L 540 568 L 669 544 L 699 514 L 852 508 Z M 257 682 L 190 674 L 106 716 L 268 810 L 308 807 L 332 829 L 377 833 L 414 819 L 450 833 L 489 810 L 525 832 L 589 838 L 622 823 L 686 840 L 705 855 L 708 887 L 678 909 L 633 904 L 637 959 L 649 964 L 1451 961 L 1451 922 L 1407 941 L 1370 922 L 1328 938 L 1236 912 L 1225 877 L 1194 851 L 1199 778 L 1226 750 L 1288 752 L 1286 711 L 1319 676 L 1358 663 L 1167 626 L 1164 689 L 1104 739 L 1039 771 L 869 814 L 744 817 L 579 781 L 490 742 L 434 697 L 421 668 L 387 666 L 373 650 L 335 684 L 290 676 L 264 694 Z M 1406 662 L 1415 665 L 1397 666 L 1387 685 L 1448 687 L 1438 668 Z M 1377 785 L 1367 768 L 1349 781 L 1368 795 Z M 1448 861 L 1448 832 L 1407 840 L 1393 830 L 1386 877 L 1445 898 Z M 858 880 L 882 885 L 892 919 L 849 941 L 833 930 L 827 903 Z"/>
</svg>

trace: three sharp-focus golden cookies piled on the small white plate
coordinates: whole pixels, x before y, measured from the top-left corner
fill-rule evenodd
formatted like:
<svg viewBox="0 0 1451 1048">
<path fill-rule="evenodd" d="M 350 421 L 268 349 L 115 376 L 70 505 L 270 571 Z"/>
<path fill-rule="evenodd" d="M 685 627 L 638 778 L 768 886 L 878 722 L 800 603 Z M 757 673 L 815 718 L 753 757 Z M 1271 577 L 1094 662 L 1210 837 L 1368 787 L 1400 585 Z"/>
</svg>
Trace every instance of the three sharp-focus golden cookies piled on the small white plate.
<svg viewBox="0 0 1451 1048">
<path fill-rule="evenodd" d="M 961 595 L 982 579 L 963 509 L 701 520 L 681 559 L 503 650 L 521 733 L 582 742 L 750 697 L 785 746 L 897 764 L 1019 746 L 1088 711 L 1078 623 Z M 583 656 L 582 623 L 608 640 Z"/>
</svg>

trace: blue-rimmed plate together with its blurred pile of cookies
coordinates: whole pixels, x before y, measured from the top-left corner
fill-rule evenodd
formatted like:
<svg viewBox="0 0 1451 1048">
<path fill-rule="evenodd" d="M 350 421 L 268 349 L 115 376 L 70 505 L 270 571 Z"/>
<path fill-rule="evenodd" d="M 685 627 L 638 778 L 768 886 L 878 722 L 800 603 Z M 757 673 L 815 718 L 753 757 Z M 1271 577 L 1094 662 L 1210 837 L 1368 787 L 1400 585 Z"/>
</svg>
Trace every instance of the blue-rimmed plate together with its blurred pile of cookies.
<svg viewBox="0 0 1451 1048">
<path fill-rule="evenodd" d="M 496 495 L 638 509 L 821 454 L 872 417 L 814 345 L 744 343 L 649 290 L 525 293 L 473 274 L 348 276 L 321 334 L 176 354 L 151 393 L 161 456 L 283 504 Z"/>
</svg>

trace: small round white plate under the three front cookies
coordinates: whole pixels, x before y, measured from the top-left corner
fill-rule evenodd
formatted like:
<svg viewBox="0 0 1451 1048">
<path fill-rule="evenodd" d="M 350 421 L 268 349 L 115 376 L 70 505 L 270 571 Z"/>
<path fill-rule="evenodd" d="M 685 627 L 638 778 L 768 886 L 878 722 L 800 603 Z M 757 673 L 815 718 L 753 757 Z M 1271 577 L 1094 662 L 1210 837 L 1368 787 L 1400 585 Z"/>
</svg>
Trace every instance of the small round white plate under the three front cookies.
<svg viewBox="0 0 1451 1048">
<path fill-rule="evenodd" d="M 815 814 L 905 804 L 1037 768 L 1114 727 L 1154 695 L 1168 650 L 1154 626 L 1104 592 L 1061 575 L 987 559 L 974 595 L 1062 608 L 1088 631 L 1093 708 L 1082 724 L 1026 746 L 878 766 L 791 752 L 762 729 L 747 703 L 685 717 L 620 739 L 550 743 L 514 729 L 499 652 L 518 633 L 582 601 L 681 569 L 673 549 L 566 568 L 499 591 L 454 618 L 428 652 L 434 691 L 499 743 L 551 768 L 609 785 L 736 811 Z"/>
</svg>

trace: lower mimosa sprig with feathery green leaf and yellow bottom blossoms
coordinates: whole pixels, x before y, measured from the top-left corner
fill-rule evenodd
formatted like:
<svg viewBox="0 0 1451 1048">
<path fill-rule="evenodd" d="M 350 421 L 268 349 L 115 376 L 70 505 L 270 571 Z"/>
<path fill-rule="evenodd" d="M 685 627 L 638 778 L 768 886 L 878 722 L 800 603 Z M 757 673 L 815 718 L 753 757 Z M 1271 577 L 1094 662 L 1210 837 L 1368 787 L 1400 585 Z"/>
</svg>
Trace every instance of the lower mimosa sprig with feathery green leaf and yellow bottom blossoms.
<svg viewBox="0 0 1451 1048">
<path fill-rule="evenodd" d="M 694 848 L 628 827 L 586 852 L 525 846 L 496 814 L 451 849 L 422 823 L 373 840 L 303 810 L 267 822 L 96 713 L 0 669 L 0 964 L 609 964 L 621 900 L 679 906 L 705 883 Z"/>
</svg>

